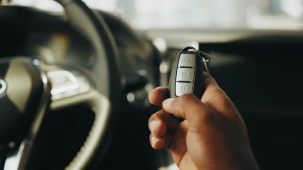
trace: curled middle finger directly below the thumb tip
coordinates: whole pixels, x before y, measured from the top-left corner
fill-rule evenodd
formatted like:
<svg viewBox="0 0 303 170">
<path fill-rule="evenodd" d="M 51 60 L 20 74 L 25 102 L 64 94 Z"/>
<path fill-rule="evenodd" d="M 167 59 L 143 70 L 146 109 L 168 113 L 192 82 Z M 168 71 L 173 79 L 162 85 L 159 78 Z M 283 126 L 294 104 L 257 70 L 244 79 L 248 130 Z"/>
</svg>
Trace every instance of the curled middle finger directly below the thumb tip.
<svg viewBox="0 0 303 170">
<path fill-rule="evenodd" d="M 167 131 L 174 132 L 179 124 L 179 120 L 163 109 L 154 113 L 149 120 L 150 131 L 157 138 L 164 136 Z"/>
</svg>

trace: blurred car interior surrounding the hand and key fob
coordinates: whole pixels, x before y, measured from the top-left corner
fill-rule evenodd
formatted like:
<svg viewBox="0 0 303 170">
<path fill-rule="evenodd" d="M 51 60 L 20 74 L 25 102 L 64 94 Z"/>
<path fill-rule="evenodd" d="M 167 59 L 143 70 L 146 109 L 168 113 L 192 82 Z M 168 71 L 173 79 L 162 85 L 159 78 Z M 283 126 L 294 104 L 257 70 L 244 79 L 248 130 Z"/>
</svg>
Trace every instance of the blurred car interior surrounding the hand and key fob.
<svg viewBox="0 0 303 170">
<path fill-rule="evenodd" d="M 302 0 L 2 0 L 0 170 L 177 170 L 148 95 L 186 46 L 210 54 L 260 168 L 301 169 L 302 22 Z"/>
</svg>

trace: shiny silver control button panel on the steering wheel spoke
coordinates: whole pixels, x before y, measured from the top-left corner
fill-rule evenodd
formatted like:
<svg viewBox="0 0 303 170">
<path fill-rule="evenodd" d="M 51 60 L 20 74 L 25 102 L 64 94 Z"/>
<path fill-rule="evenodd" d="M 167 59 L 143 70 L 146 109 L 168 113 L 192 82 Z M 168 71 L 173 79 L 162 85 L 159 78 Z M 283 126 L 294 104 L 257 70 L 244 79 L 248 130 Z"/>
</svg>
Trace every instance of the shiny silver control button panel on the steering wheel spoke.
<svg viewBox="0 0 303 170">
<path fill-rule="evenodd" d="M 48 72 L 47 77 L 52 85 L 51 99 L 53 101 L 86 93 L 90 90 L 88 80 L 77 71 Z"/>
</svg>

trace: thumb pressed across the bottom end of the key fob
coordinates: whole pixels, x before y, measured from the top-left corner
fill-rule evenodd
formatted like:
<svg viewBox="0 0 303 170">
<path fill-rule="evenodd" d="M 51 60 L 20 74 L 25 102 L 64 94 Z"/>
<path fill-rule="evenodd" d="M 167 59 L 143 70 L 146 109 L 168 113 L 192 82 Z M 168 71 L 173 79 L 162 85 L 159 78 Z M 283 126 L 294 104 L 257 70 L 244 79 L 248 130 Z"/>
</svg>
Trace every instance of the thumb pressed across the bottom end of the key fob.
<svg viewBox="0 0 303 170">
<path fill-rule="evenodd" d="M 191 121 L 199 121 L 207 116 L 206 106 L 194 95 L 183 94 L 176 98 L 168 98 L 162 103 L 163 109 L 174 116 Z"/>
</svg>

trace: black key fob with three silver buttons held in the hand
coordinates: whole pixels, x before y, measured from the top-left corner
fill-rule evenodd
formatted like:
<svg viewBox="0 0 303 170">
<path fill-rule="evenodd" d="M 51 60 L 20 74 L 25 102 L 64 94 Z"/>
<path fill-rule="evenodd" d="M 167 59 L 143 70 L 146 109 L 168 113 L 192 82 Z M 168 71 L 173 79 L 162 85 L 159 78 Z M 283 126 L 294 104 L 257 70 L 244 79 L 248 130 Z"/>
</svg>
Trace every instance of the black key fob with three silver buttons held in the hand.
<svg viewBox="0 0 303 170">
<path fill-rule="evenodd" d="M 204 52 L 201 53 L 206 54 Z M 193 47 L 185 47 L 179 52 L 171 68 L 168 84 L 170 97 L 192 93 L 201 98 L 204 82 L 203 71 L 208 71 L 205 68 L 207 65 L 204 65 L 203 61 L 205 62 L 200 57 L 198 50 Z"/>
</svg>

